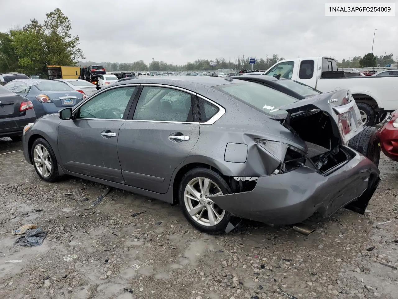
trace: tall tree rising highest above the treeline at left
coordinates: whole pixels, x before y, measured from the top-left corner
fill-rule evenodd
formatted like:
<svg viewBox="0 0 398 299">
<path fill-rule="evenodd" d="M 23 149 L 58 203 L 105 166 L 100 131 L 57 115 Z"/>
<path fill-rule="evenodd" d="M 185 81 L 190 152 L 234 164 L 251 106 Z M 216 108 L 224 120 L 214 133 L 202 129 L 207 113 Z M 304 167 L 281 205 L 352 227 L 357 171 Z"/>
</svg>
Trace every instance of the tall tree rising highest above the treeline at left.
<svg viewBox="0 0 398 299">
<path fill-rule="evenodd" d="M 86 58 L 78 47 L 79 37 L 72 36 L 72 25 L 59 8 L 46 14 L 44 43 L 48 65 L 76 65 L 77 59 Z"/>
</svg>

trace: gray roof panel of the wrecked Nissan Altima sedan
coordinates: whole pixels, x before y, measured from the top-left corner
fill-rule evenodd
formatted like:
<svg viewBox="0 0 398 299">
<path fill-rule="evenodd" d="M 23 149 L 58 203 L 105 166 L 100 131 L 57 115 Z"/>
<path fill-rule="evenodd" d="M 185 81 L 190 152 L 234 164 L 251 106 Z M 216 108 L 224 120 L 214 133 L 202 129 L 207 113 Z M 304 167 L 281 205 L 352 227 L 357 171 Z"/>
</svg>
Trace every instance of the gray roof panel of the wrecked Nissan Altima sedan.
<svg viewBox="0 0 398 299">
<path fill-rule="evenodd" d="M 231 83 L 241 83 L 234 81 L 233 79 L 231 80 L 229 78 L 220 78 L 220 77 L 211 77 L 211 76 L 168 76 L 167 79 L 164 77 L 139 77 L 138 79 L 131 79 L 131 83 L 155 83 L 155 84 L 166 84 L 166 85 L 175 85 L 175 86 L 180 86 L 184 85 L 186 88 L 189 88 L 188 86 L 191 85 L 191 87 L 194 87 L 195 85 L 203 85 L 206 87 L 213 87 L 217 85 L 224 85 L 224 84 L 231 84 Z M 122 82 L 118 82 L 113 84 L 112 86 L 117 85 L 125 85 L 130 83 L 129 80 L 125 80 Z"/>
</svg>

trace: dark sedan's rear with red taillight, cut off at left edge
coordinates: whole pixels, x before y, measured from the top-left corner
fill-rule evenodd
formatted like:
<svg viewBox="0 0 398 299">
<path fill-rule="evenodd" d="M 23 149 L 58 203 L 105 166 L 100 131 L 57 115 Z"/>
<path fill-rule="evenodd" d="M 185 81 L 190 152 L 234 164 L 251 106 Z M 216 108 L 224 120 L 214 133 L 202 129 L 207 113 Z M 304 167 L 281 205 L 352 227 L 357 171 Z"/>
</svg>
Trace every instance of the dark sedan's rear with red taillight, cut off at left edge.
<svg viewBox="0 0 398 299">
<path fill-rule="evenodd" d="M 20 141 L 23 127 L 35 122 L 33 103 L 24 96 L 0 86 L 0 138 Z"/>
</svg>

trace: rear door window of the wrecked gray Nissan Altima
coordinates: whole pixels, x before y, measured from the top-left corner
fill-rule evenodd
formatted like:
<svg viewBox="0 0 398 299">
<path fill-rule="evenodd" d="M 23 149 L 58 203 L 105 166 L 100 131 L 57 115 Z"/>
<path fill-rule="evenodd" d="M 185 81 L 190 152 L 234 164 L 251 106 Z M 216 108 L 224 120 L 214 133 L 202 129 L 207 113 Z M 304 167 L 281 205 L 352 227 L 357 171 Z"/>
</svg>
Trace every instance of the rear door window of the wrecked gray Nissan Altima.
<svg viewBox="0 0 398 299">
<path fill-rule="evenodd" d="M 145 86 L 133 120 L 193 122 L 191 94 L 176 89 Z"/>
</svg>

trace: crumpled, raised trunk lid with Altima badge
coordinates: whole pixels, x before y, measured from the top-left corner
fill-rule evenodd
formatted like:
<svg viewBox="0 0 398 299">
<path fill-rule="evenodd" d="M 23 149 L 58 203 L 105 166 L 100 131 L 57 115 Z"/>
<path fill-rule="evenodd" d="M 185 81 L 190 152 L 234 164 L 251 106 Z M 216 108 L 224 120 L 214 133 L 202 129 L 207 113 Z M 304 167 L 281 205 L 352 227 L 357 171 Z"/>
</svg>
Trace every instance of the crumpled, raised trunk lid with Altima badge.
<svg viewBox="0 0 398 299">
<path fill-rule="evenodd" d="M 288 116 L 283 124 L 303 140 L 327 149 L 346 144 L 363 130 L 351 92 L 340 89 L 278 107 Z"/>
</svg>

